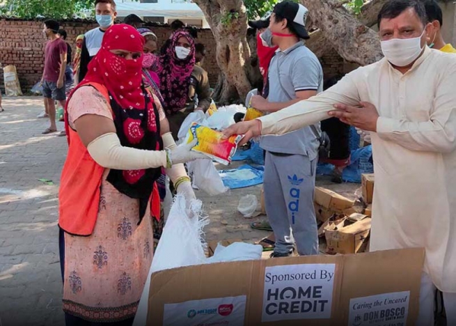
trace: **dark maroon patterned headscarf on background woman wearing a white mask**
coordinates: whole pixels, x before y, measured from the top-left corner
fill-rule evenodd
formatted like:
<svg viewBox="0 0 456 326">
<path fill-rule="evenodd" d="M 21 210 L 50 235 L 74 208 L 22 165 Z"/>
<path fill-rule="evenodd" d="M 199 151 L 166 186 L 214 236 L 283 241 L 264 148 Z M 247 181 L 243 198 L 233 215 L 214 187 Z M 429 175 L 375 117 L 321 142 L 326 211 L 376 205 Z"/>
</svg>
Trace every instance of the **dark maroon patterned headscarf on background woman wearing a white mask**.
<svg viewBox="0 0 456 326">
<path fill-rule="evenodd" d="M 190 54 L 186 59 L 179 59 L 175 47 L 180 38 L 187 38 L 190 43 Z M 190 76 L 195 66 L 195 41 L 186 31 L 173 34 L 166 53 L 160 56 L 158 75 L 160 92 L 164 100 L 167 115 L 184 109 L 189 96 Z"/>
</svg>

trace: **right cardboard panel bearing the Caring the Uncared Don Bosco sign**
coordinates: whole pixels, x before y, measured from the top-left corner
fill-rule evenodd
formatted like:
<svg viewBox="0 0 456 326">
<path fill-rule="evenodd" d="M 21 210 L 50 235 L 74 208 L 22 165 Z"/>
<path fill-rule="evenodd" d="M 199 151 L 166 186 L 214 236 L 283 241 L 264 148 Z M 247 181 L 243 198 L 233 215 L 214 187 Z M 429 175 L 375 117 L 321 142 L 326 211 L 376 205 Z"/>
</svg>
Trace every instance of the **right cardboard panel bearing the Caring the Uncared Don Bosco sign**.
<svg viewBox="0 0 456 326">
<path fill-rule="evenodd" d="M 340 325 L 388 325 L 392 317 L 415 325 L 424 255 L 417 248 L 344 256 Z"/>
</svg>

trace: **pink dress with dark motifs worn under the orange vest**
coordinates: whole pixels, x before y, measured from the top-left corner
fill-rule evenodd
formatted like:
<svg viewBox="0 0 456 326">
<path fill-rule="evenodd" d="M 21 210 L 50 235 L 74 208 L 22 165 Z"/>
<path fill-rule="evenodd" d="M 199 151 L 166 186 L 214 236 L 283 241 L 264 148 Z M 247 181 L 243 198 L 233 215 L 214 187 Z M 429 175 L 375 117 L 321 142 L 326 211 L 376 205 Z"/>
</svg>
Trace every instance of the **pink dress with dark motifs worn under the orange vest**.
<svg viewBox="0 0 456 326">
<path fill-rule="evenodd" d="M 68 106 L 68 122 L 85 114 L 112 119 L 104 97 L 81 87 Z M 65 233 L 63 310 L 94 323 L 133 318 L 153 256 L 150 208 L 139 224 L 139 200 L 121 194 L 104 171 L 100 205 L 93 234 Z M 139 224 L 139 225 L 138 225 Z"/>
</svg>

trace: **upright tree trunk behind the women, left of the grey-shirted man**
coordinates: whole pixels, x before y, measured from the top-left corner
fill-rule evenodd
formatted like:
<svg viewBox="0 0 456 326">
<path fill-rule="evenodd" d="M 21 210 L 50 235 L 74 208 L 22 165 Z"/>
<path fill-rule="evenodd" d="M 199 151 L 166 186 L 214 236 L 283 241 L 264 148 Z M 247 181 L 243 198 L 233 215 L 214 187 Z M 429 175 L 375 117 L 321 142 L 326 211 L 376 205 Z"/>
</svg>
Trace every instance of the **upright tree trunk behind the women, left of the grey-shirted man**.
<svg viewBox="0 0 456 326">
<path fill-rule="evenodd" d="M 247 15 L 242 0 L 195 0 L 203 10 L 217 44 L 222 77 L 214 96 L 219 104 L 245 98 L 251 90 L 246 63 L 251 56 L 247 42 Z"/>
</svg>

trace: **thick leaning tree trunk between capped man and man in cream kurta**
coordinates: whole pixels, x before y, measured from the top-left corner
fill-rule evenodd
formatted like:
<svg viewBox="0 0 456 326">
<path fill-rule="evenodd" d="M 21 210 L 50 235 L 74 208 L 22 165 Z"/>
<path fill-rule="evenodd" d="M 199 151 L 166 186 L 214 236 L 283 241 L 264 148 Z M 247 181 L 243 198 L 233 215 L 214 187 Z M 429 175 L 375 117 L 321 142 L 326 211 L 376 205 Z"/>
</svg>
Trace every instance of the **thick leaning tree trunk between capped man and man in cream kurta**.
<svg viewBox="0 0 456 326">
<path fill-rule="evenodd" d="M 368 65 L 382 59 L 377 33 L 361 24 L 337 0 L 300 0 L 313 23 L 343 59 Z"/>
</svg>

